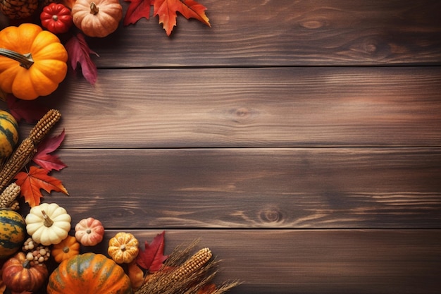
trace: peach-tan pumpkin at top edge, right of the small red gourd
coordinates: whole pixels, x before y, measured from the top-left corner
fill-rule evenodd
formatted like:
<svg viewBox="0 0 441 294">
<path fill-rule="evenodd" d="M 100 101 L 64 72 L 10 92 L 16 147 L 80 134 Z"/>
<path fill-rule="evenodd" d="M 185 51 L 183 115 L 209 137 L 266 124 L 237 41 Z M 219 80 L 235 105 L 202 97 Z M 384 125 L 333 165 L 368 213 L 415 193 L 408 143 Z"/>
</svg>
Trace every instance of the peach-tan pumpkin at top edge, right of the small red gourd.
<svg viewBox="0 0 441 294">
<path fill-rule="evenodd" d="M 123 18 L 119 0 L 77 0 L 72 7 L 73 23 L 89 37 L 106 37 Z"/>
</svg>

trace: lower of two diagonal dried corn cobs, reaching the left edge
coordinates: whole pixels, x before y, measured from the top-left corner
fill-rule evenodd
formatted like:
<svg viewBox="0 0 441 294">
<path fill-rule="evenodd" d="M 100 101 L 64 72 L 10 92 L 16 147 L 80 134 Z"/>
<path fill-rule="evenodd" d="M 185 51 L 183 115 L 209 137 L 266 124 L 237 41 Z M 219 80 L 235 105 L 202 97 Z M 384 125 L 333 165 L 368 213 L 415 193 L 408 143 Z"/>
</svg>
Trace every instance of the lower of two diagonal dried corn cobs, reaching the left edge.
<svg viewBox="0 0 441 294">
<path fill-rule="evenodd" d="M 0 190 L 8 185 L 9 182 L 14 178 L 14 176 L 32 159 L 36 150 L 34 142 L 28 137 L 17 149 L 14 150 L 11 157 L 0 170 Z"/>
</svg>

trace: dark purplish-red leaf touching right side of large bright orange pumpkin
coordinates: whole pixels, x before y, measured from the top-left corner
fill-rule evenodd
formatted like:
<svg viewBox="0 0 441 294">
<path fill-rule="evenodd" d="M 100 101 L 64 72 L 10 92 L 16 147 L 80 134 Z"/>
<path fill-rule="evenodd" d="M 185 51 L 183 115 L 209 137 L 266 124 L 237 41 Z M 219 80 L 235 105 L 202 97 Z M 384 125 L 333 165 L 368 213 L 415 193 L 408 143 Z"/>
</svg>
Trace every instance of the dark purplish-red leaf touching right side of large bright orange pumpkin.
<svg viewBox="0 0 441 294">
<path fill-rule="evenodd" d="M 89 48 L 84 35 L 78 33 L 76 37 L 71 37 L 68 42 L 66 42 L 66 50 L 68 51 L 70 65 L 73 70 L 75 71 L 77 64 L 80 63 L 82 75 L 87 82 L 95 85 L 98 71 L 97 66 L 95 66 L 95 63 L 90 59 L 90 54 L 99 55 Z"/>
</svg>

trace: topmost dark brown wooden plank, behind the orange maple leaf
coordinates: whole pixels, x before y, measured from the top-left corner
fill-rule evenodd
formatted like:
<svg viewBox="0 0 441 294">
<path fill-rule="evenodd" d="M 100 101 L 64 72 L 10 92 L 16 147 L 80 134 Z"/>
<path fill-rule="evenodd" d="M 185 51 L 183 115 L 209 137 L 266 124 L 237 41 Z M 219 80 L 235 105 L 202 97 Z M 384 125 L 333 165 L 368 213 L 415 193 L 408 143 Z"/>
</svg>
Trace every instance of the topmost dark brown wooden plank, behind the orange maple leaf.
<svg viewBox="0 0 441 294">
<path fill-rule="evenodd" d="M 89 39 L 101 68 L 440 64 L 441 3 L 199 1 L 212 27 L 178 17 L 172 37 L 143 18 Z M 122 1 L 125 10 L 128 3 Z"/>
</svg>

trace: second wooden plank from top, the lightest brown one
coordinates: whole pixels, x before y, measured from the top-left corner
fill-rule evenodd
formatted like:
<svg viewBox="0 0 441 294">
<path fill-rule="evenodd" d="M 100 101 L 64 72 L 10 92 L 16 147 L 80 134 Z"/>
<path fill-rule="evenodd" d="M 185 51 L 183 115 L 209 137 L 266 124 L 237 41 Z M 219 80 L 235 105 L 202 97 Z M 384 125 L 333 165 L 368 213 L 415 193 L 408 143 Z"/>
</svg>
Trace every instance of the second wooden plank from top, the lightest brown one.
<svg viewBox="0 0 441 294">
<path fill-rule="evenodd" d="M 69 148 L 440 146 L 440 92 L 439 67 L 214 68 L 70 75 L 42 99 Z"/>
</svg>

